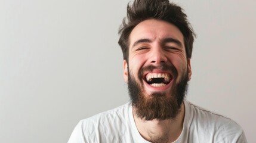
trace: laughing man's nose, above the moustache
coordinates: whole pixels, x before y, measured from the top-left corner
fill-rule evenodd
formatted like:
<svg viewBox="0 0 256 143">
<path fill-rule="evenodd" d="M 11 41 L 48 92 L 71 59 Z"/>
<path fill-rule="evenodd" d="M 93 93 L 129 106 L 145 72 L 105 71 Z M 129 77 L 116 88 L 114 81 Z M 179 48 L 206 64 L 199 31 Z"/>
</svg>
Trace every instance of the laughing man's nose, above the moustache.
<svg viewBox="0 0 256 143">
<path fill-rule="evenodd" d="M 167 57 L 165 55 L 165 51 L 161 46 L 156 47 L 150 53 L 150 63 L 152 64 L 163 64 L 167 62 Z"/>
</svg>

